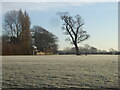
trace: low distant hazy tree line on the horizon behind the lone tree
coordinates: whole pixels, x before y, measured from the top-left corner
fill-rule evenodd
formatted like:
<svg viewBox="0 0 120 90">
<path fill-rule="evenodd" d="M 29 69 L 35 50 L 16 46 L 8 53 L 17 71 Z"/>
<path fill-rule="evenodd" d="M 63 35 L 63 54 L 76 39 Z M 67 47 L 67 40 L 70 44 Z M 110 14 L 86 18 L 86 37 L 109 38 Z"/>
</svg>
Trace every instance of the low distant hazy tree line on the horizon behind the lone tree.
<svg viewBox="0 0 120 90">
<path fill-rule="evenodd" d="M 110 54 L 110 55 L 117 55 L 120 54 L 117 50 L 110 48 L 109 51 L 100 50 L 96 47 L 90 46 L 89 44 L 85 44 L 83 47 L 79 47 L 80 54 Z M 58 54 L 76 54 L 75 47 L 66 47 L 64 50 L 58 51 Z"/>
</svg>

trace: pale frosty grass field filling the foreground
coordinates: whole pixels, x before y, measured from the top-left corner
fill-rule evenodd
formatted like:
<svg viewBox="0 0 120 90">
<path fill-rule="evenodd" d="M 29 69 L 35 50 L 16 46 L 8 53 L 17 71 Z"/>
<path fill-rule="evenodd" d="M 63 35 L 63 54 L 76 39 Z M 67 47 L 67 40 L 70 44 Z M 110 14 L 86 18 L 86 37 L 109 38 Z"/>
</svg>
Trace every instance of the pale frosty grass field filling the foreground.
<svg viewBox="0 0 120 90">
<path fill-rule="evenodd" d="M 3 56 L 3 88 L 116 88 L 116 55 Z"/>
</svg>

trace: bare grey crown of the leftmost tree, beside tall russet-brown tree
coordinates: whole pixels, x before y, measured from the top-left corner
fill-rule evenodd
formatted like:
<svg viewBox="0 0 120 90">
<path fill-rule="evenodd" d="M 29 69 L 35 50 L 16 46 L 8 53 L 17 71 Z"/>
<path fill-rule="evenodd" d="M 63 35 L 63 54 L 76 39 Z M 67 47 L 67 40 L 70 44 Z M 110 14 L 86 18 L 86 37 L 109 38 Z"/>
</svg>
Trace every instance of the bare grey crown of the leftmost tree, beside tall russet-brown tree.
<svg viewBox="0 0 120 90">
<path fill-rule="evenodd" d="M 5 33 L 10 37 L 15 37 L 17 39 L 19 38 L 19 35 L 22 31 L 18 18 L 18 11 L 12 10 L 4 15 L 3 21 Z"/>
</svg>

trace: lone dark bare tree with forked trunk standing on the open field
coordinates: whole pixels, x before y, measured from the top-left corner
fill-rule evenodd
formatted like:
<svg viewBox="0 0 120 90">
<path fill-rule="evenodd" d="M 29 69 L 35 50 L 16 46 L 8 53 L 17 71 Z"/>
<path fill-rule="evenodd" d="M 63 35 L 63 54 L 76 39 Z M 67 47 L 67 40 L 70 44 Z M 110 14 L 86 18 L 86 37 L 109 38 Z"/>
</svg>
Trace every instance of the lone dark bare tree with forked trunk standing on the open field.
<svg viewBox="0 0 120 90">
<path fill-rule="evenodd" d="M 67 40 L 75 46 L 76 55 L 79 55 L 78 43 L 90 37 L 89 34 L 82 29 L 82 26 L 85 24 L 82 17 L 80 15 L 72 17 L 68 12 L 60 12 L 58 14 L 60 19 L 64 21 L 62 29 L 65 30 L 66 35 L 70 36 Z"/>
</svg>

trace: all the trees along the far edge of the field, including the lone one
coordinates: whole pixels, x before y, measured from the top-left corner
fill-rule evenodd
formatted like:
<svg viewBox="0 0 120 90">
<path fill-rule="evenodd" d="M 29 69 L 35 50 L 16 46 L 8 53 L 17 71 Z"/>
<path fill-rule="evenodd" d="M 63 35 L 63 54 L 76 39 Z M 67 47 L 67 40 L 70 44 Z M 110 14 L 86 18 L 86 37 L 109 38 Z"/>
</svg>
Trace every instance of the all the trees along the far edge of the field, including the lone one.
<svg viewBox="0 0 120 90">
<path fill-rule="evenodd" d="M 66 40 L 74 45 L 73 48 L 58 51 L 58 38 L 54 34 L 41 26 L 30 28 L 31 22 L 28 13 L 22 10 L 12 10 L 7 12 L 3 19 L 4 30 L 0 37 L 2 39 L 2 54 L 31 55 L 34 47 L 37 47 L 38 52 L 45 54 L 119 54 L 112 48 L 107 52 L 88 44 L 79 47 L 79 43 L 90 37 L 87 31 L 82 28 L 85 24 L 84 20 L 80 15 L 72 17 L 68 12 L 60 12 L 58 15 L 64 22 L 62 29 L 65 31 L 65 35 L 69 36 Z"/>
</svg>

